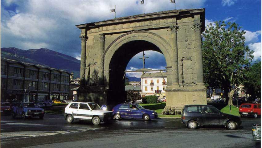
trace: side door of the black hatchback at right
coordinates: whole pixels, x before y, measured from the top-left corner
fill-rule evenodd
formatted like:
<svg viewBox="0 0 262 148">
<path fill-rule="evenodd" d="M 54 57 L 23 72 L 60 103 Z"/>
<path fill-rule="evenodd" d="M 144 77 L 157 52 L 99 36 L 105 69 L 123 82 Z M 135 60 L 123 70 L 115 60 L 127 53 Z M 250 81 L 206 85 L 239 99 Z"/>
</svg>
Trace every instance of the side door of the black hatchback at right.
<svg viewBox="0 0 262 148">
<path fill-rule="evenodd" d="M 204 125 L 222 125 L 224 116 L 213 106 L 202 106 Z"/>
</svg>

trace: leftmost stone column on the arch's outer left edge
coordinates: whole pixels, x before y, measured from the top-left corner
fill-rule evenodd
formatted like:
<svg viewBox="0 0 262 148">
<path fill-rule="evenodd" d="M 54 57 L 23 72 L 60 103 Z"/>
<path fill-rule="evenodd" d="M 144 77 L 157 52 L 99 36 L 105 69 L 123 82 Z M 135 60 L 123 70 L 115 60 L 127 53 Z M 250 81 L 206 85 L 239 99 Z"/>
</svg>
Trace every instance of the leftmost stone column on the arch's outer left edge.
<svg viewBox="0 0 262 148">
<path fill-rule="evenodd" d="M 86 57 L 86 41 L 88 37 L 86 35 L 80 35 L 81 38 L 81 65 L 80 65 L 80 80 L 84 82 L 85 79 L 85 57 Z"/>
</svg>

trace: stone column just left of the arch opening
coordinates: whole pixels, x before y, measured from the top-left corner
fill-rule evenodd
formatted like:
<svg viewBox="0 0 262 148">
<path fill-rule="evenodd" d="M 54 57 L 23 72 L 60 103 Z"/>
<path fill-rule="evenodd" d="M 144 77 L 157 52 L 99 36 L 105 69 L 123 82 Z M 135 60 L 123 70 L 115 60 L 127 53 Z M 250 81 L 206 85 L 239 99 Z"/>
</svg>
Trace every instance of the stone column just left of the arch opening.
<svg viewBox="0 0 262 148">
<path fill-rule="evenodd" d="M 104 41 L 105 36 L 104 34 L 99 34 L 99 55 L 101 57 L 100 64 L 98 67 L 98 84 L 103 85 L 104 84 Z"/>
</svg>

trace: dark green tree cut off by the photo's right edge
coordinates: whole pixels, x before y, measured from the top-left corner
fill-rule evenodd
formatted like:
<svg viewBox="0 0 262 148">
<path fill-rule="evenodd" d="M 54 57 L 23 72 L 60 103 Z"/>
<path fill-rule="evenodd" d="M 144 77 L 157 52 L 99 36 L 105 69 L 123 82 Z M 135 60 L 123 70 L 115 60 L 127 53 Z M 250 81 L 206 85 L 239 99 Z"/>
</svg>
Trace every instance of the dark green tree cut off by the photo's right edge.
<svg viewBox="0 0 262 148">
<path fill-rule="evenodd" d="M 245 75 L 244 91 L 251 98 L 261 98 L 261 61 L 256 61 Z"/>
</svg>

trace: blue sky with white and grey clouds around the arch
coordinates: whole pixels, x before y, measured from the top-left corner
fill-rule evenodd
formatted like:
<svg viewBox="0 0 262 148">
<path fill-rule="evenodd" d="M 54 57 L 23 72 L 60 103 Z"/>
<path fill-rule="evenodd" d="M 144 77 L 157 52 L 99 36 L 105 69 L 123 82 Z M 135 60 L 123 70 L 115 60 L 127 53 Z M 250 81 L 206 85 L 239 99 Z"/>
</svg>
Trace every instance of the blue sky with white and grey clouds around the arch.
<svg viewBox="0 0 262 148">
<path fill-rule="evenodd" d="M 144 0 L 145 13 L 174 9 L 169 0 Z M 48 48 L 80 60 L 80 29 L 75 25 L 143 13 L 140 0 L 1 0 L 1 47 Z M 261 0 L 176 0 L 176 9 L 205 8 L 205 24 L 224 20 L 246 31 L 246 45 L 261 60 Z M 146 68 L 163 69 L 165 58 L 145 51 Z M 135 55 L 127 70 L 143 67 L 142 53 Z M 157 60 L 156 60 L 157 59 Z M 139 73 L 128 76 L 140 77 Z"/>
</svg>

